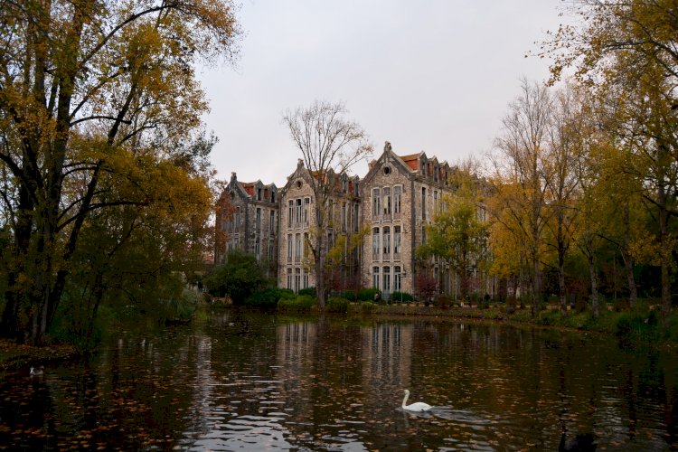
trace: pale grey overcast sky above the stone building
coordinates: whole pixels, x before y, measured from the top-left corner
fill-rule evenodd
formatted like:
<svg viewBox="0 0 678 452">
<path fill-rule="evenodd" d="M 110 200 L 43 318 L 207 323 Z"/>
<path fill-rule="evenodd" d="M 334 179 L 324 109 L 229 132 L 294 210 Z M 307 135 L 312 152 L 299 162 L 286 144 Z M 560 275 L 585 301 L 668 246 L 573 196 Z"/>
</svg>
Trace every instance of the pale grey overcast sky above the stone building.
<svg viewBox="0 0 678 452">
<path fill-rule="evenodd" d="M 285 184 L 301 155 L 281 118 L 314 99 L 344 101 L 381 154 L 421 150 L 450 165 L 482 156 L 520 79 L 548 78 L 525 58 L 562 23 L 560 0 L 243 0 L 236 65 L 202 69 L 220 142 L 219 177 Z M 354 167 L 363 177 L 366 164 Z"/>
</svg>

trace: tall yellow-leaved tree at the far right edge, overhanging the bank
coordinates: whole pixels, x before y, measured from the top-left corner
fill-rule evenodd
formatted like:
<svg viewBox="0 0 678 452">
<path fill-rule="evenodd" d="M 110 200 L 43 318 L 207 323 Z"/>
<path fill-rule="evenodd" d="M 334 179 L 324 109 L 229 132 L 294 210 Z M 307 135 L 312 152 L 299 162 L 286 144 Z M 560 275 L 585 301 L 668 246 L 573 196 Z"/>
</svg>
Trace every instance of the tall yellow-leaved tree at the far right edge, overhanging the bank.
<svg viewBox="0 0 678 452">
<path fill-rule="evenodd" d="M 643 187 L 654 218 L 666 323 L 678 213 L 678 10 L 665 0 L 579 0 L 572 8 L 581 22 L 551 33 L 542 54 L 555 59 L 552 80 L 574 67 L 598 99 L 614 94 L 614 120 L 607 127 L 630 153 L 626 173 Z"/>
</svg>

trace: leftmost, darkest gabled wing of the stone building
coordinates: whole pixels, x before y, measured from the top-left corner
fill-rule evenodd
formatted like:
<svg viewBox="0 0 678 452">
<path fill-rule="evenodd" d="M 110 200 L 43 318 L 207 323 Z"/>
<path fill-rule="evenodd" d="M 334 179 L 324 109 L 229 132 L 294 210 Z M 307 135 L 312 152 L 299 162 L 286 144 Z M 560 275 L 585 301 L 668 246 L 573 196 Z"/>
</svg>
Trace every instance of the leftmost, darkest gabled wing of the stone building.
<svg viewBox="0 0 678 452">
<path fill-rule="evenodd" d="M 216 225 L 214 262 L 221 264 L 231 250 L 253 254 L 269 278 L 278 271 L 278 188 L 261 181 L 242 183 L 235 173 L 221 193 Z"/>
</svg>

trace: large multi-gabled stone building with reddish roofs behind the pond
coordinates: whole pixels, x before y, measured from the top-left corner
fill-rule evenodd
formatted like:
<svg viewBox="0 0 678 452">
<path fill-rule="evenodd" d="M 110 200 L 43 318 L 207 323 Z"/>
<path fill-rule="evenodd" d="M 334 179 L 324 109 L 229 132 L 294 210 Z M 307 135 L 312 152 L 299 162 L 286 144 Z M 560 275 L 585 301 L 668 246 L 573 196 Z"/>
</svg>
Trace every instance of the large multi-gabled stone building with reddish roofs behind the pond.
<svg viewBox="0 0 678 452">
<path fill-rule="evenodd" d="M 328 174 L 334 181 L 331 208 L 327 212 L 325 247 L 341 243 L 341 261 L 323 276 L 332 290 L 376 287 L 384 297 L 402 291 L 417 294 L 427 278 L 431 286 L 449 293 L 453 283 L 446 268 L 435 259 L 416 257 L 417 247 L 426 240 L 425 225 L 445 193 L 452 193 L 447 162 L 438 162 L 424 152 L 396 155 L 386 143 L 381 156 L 372 161 L 363 180 L 347 174 Z M 307 246 L 316 231 L 316 202 L 313 177 L 301 160 L 276 189 L 260 181 L 243 184 L 235 174 L 221 195 L 231 202 L 231 218 L 217 218 L 224 240 L 217 240 L 215 262 L 221 263 L 228 250 L 239 248 L 268 262 L 276 272 L 278 287 L 295 291 L 315 287 L 313 259 Z M 278 215 L 279 212 L 279 215 Z M 279 218 L 279 221 L 276 221 Z M 364 234 L 362 246 L 351 248 L 350 239 Z M 219 229 L 219 228 L 218 228 Z M 273 269 L 275 268 L 275 270 Z"/>
</svg>

